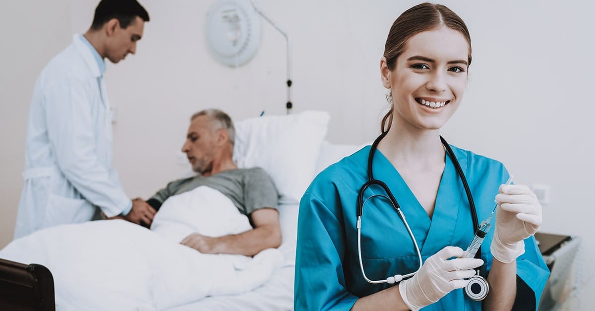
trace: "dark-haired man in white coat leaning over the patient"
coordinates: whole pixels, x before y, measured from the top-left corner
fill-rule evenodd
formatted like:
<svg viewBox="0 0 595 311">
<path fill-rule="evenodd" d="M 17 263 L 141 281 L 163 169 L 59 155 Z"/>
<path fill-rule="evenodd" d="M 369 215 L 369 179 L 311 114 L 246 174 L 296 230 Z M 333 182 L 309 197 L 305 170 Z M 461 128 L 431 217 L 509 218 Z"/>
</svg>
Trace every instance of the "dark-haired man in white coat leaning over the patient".
<svg viewBox="0 0 595 311">
<path fill-rule="evenodd" d="M 130 200 L 111 166 L 111 107 L 104 79 L 104 59 L 115 64 L 134 54 L 145 21 L 148 13 L 134 0 L 102 0 L 90 29 L 75 34 L 37 78 L 15 238 L 89 221 L 99 212 L 151 223 L 154 209 Z"/>
</svg>

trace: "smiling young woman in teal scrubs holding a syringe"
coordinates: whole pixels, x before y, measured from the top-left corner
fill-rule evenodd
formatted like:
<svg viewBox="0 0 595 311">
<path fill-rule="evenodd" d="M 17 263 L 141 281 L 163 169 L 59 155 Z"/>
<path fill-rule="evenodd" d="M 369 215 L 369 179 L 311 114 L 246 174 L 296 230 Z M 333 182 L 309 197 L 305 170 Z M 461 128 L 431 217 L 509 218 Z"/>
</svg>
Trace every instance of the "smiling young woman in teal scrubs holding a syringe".
<svg viewBox="0 0 595 311">
<path fill-rule="evenodd" d="M 500 162 L 439 134 L 469 65 L 469 32 L 449 8 L 420 4 L 394 21 L 380 61 L 392 105 L 381 136 L 321 172 L 300 203 L 296 310 L 536 309 L 549 271 L 533 238 L 535 194 L 503 185 Z M 494 228 L 464 258 L 494 198 Z"/>
</svg>

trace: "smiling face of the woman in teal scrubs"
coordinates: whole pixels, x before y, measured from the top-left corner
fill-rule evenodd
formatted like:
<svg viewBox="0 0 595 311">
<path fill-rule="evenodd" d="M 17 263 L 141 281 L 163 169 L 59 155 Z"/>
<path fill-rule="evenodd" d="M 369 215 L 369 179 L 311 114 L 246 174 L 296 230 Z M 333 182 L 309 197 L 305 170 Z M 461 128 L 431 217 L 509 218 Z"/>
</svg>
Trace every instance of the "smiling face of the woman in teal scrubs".
<svg viewBox="0 0 595 311">
<path fill-rule="evenodd" d="M 393 99 L 391 121 L 440 128 L 455 113 L 465 92 L 468 61 L 463 59 L 469 53 L 468 44 L 457 30 L 440 26 L 411 37 L 407 47 L 396 61 L 392 59 L 390 67 L 386 56 L 380 61 L 383 85 Z M 426 114 L 433 117 L 426 118 Z M 391 125 L 386 124 L 386 130 Z"/>
</svg>

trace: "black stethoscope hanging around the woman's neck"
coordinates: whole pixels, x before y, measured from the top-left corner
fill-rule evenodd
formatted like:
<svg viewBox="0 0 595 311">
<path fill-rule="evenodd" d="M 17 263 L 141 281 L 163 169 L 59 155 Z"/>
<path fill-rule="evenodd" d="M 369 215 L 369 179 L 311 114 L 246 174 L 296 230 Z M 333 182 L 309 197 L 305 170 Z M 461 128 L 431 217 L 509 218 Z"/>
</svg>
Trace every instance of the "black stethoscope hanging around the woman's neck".
<svg viewBox="0 0 595 311">
<path fill-rule="evenodd" d="M 411 228 L 409 228 L 409 224 L 407 223 L 407 220 L 405 219 L 405 215 L 401 211 L 399 203 L 397 203 L 397 200 L 394 199 L 393 193 L 390 191 L 389 187 L 386 186 L 386 184 L 383 181 L 374 179 L 374 176 L 372 175 L 372 161 L 374 159 L 374 152 L 376 151 L 376 149 L 378 147 L 378 143 L 380 143 L 380 140 L 382 140 L 384 138 L 384 136 L 386 136 L 387 133 L 388 132 L 384 132 L 384 133 L 380 134 L 380 136 L 378 136 L 378 138 L 376 140 L 374 140 L 374 143 L 372 143 L 372 147 L 370 148 L 369 155 L 368 155 L 368 181 L 364 184 L 364 186 L 361 187 L 361 189 L 359 189 L 358 202 L 357 202 L 357 204 L 358 204 L 357 228 L 358 228 L 359 268 L 361 268 L 361 270 L 362 270 L 362 275 L 364 276 L 364 279 L 370 284 L 382 284 L 382 283 L 394 284 L 394 283 L 400 282 L 400 281 L 402 281 L 402 279 L 413 277 L 415 274 L 417 274 L 417 272 L 419 272 L 419 269 L 421 269 L 421 266 L 422 266 L 421 252 L 419 251 L 419 246 L 417 244 L 417 241 L 415 240 L 415 235 L 411 231 Z M 477 230 L 479 228 L 479 224 L 478 224 L 479 221 L 477 218 L 477 211 L 475 209 L 475 203 L 473 202 L 473 197 L 471 196 L 471 190 L 469 189 L 469 185 L 467 184 L 465 174 L 463 174 L 461 165 L 459 164 L 459 161 L 456 159 L 455 153 L 450 148 L 450 145 L 446 142 L 446 140 L 444 140 L 444 138 L 442 136 L 440 136 L 440 140 L 441 140 L 442 144 L 444 145 L 444 148 L 446 149 L 447 155 L 450 157 L 453 164 L 455 165 L 457 174 L 459 175 L 459 177 L 461 177 L 463 187 L 465 188 L 465 193 L 467 194 L 467 199 L 469 200 L 469 206 L 471 207 L 471 218 L 473 219 L 473 231 L 475 233 L 475 232 L 477 232 Z M 364 201 L 364 192 L 366 189 L 368 189 L 368 187 L 370 187 L 372 185 L 380 186 L 384 190 L 386 195 L 374 194 L 373 196 L 368 197 L 368 199 L 366 199 Z M 409 233 L 409 237 L 411 237 L 411 241 L 413 241 L 413 244 L 415 246 L 415 252 L 417 253 L 417 257 L 419 260 L 419 267 L 417 268 L 417 270 L 415 272 L 411 272 L 411 273 L 405 274 L 405 275 L 396 274 L 396 275 L 387 277 L 386 279 L 381 279 L 378 281 L 373 281 L 367 277 L 367 275 L 364 271 L 364 263 L 362 262 L 362 243 L 361 243 L 362 215 L 364 215 L 365 203 L 368 202 L 368 200 L 371 199 L 372 197 L 384 197 L 387 200 L 389 200 L 389 202 L 392 204 L 393 208 L 399 214 L 399 217 L 403 221 L 403 224 L 405 224 L 405 228 L 407 229 L 407 231 Z M 475 258 L 480 258 L 480 257 L 481 257 L 481 246 L 480 246 L 480 249 L 478 249 L 477 253 L 475 254 Z M 486 279 L 479 275 L 479 269 L 477 270 L 476 275 L 469 278 L 469 283 L 465 287 L 465 293 L 467 294 L 467 296 L 469 296 L 473 300 L 485 299 L 487 297 L 489 290 L 490 290 L 490 288 L 487 284 Z"/>
</svg>

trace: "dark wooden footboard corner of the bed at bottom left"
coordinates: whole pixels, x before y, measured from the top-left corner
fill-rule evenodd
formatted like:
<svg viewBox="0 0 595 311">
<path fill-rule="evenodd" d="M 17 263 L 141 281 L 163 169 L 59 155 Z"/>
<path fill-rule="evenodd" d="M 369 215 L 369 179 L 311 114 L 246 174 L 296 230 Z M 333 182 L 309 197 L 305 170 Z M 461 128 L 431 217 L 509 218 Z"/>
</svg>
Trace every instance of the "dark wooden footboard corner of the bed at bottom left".
<svg viewBox="0 0 595 311">
<path fill-rule="evenodd" d="M 0 259 L 0 310 L 55 309 L 54 277 L 48 268 Z"/>
</svg>

